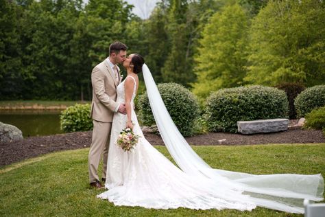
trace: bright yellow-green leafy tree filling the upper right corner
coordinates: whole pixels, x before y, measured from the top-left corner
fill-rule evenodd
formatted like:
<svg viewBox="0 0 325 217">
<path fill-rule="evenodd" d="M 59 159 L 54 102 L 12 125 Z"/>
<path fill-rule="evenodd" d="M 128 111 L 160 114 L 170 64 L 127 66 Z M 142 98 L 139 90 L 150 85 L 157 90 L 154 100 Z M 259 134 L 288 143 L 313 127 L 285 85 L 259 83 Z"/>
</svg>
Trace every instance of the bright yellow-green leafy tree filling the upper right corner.
<svg viewBox="0 0 325 217">
<path fill-rule="evenodd" d="M 324 1 L 269 1 L 252 21 L 245 80 L 265 85 L 324 84 L 324 20 Z"/>
</svg>

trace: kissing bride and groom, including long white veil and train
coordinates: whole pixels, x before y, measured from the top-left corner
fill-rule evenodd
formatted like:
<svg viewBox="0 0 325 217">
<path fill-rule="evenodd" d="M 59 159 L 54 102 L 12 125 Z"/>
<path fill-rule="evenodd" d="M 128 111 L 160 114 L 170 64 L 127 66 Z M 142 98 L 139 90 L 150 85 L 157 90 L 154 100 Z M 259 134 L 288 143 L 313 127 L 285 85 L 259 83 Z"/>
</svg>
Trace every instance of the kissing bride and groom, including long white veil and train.
<svg viewBox="0 0 325 217">
<path fill-rule="evenodd" d="M 198 156 L 173 123 L 143 57 L 127 55 L 128 47 L 112 43 L 109 56 L 91 73 L 93 85 L 93 139 L 88 156 L 91 186 L 102 188 L 97 168 L 101 156 L 101 181 L 106 192 L 97 195 L 115 205 L 154 209 L 237 209 L 256 206 L 304 213 L 303 200 L 322 201 L 321 174 L 254 175 L 210 168 Z M 121 80 L 117 64 L 128 76 Z M 139 126 L 134 98 L 143 73 L 152 113 L 161 137 L 176 165 L 154 148 Z M 117 146 L 124 128 L 139 135 L 134 150 Z"/>
</svg>

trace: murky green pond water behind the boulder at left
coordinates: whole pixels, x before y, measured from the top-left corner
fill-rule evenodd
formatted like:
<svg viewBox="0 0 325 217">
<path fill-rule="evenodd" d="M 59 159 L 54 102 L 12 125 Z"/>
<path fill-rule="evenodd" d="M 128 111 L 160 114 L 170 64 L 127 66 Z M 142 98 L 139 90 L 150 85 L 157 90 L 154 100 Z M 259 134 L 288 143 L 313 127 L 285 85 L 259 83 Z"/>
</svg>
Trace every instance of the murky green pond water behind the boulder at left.
<svg viewBox="0 0 325 217">
<path fill-rule="evenodd" d="M 0 122 L 18 127 L 23 132 L 23 137 L 62 133 L 58 110 L 0 111 Z"/>
</svg>

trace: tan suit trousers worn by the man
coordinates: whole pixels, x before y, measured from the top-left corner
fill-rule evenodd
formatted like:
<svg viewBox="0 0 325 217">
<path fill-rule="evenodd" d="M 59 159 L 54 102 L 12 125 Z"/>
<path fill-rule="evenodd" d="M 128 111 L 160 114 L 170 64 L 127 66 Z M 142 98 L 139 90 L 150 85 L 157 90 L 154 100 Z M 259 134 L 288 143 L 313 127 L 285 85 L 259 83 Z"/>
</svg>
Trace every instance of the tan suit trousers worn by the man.
<svg viewBox="0 0 325 217">
<path fill-rule="evenodd" d="M 103 155 L 103 173 L 102 178 L 106 178 L 108 148 L 110 145 L 110 130 L 112 122 L 98 122 L 93 119 L 93 139 L 91 141 L 91 150 L 88 155 L 89 182 L 99 181 L 97 174 L 99 161 Z"/>
</svg>

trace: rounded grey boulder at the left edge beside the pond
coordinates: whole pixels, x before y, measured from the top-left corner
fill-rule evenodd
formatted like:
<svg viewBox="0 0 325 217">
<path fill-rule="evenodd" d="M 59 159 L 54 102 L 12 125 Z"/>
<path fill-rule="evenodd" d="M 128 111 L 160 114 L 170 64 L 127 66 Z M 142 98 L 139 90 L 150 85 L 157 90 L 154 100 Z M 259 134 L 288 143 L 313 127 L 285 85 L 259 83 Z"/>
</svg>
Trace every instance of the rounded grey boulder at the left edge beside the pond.
<svg viewBox="0 0 325 217">
<path fill-rule="evenodd" d="M 8 143 L 23 139 L 23 133 L 16 126 L 0 122 L 0 142 Z"/>
</svg>

